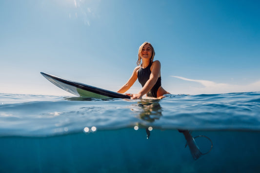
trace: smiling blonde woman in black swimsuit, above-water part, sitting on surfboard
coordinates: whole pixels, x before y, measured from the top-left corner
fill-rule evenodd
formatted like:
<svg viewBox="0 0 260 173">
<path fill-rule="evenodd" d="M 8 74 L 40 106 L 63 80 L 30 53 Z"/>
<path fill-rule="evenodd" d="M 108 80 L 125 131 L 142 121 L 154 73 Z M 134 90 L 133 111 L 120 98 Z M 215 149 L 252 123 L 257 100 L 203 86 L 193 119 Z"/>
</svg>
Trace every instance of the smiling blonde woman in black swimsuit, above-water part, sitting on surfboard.
<svg viewBox="0 0 260 173">
<path fill-rule="evenodd" d="M 142 89 L 138 94 L 130 94 L 131 99 L 141 98 L 143 95 L 163 98 L 165 94 L 169 94 L 161 87 L 160 77 L 160 61 L 153 61 L 155 51 L 151 43 L 144 42 L 138 51 L 137 67 L 134 69 L 132 76 L 124 84 L 118 93 L 124 93 L 138 79 L 142 85 Z"/>
</svg>

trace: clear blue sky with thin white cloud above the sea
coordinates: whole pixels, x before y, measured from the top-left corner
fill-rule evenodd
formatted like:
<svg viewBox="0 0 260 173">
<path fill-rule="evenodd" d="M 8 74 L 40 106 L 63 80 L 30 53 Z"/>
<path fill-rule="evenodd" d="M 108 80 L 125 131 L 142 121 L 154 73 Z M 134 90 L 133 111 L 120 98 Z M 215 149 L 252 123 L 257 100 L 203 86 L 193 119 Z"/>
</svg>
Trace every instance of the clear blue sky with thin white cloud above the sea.
<svg viewBox="0 0 260 173">
<path fill-rule="evenodd" d="M 150 42 L 171 94 L 260 91 L 259 0 L 1 0 L 0 93 L 70 96 L 40 75 L 117 91 Z M 127 93 L 138 93 L 138 81 Z"/>
</svg>

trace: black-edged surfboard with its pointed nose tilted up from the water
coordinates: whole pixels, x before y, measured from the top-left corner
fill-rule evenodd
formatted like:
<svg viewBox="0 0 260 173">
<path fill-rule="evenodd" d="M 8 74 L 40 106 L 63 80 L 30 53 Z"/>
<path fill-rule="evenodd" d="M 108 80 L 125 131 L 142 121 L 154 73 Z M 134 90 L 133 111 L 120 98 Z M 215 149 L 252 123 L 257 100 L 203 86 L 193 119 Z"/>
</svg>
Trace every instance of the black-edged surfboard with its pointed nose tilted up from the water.
<svg viewBox="0 0 260 173">
<path fill-rule="evenodd" d="M 67 80 L 43 72 L 40 72 L 40 74 L 46 79 L 48 79 L 51 83 L 61 88 L 62 90 L 65 90 L 76 96 L 100 98 L 100 99 L 130 98 L 130 96 L 124 94 L 86 85 L 80 82 Z"/>
</svg>

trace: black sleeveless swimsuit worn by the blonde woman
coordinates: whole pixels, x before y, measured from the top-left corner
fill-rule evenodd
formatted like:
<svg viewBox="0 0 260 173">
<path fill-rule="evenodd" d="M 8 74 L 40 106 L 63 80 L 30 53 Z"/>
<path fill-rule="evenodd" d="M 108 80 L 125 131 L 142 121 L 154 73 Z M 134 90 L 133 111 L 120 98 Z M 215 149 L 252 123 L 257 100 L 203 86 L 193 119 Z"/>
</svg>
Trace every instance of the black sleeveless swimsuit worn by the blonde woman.
<svg viewBox="0 0 260 173">
<path fill-rule="evenodd" d="M 150 63 L 146 68 L 143 69 L 142 67 L 140 67 L 140 69 L 138 70 L 137 77 L 138 77 L 138 81 L 140 82 L 142 87 L 145 85 L 147 80 L 150 78 L 151 66 L 152 66 L 152 63 Z M 158 91 L 160 86 L 161 86 L 161 77 L 158 77 L 155 85 L 146 95 L 152 96 L 152 97 L 157 97 L 157 91 Z"/>
</svg>

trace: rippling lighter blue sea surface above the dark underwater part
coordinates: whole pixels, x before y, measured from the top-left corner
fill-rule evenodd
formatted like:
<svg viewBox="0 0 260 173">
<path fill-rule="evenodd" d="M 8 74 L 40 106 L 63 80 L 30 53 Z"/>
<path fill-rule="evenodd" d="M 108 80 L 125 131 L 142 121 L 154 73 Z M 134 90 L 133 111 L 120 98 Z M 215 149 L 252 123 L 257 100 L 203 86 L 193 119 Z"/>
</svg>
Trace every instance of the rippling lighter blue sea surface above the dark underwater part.
<svg viewBox="0 0 260 173">
<path fill-rule="evenodd" d="M 260 93 L 168 95 L 161 100 L 0 94 L 0 136 L 141 127 L 260 130 Z"/>
</svg>

